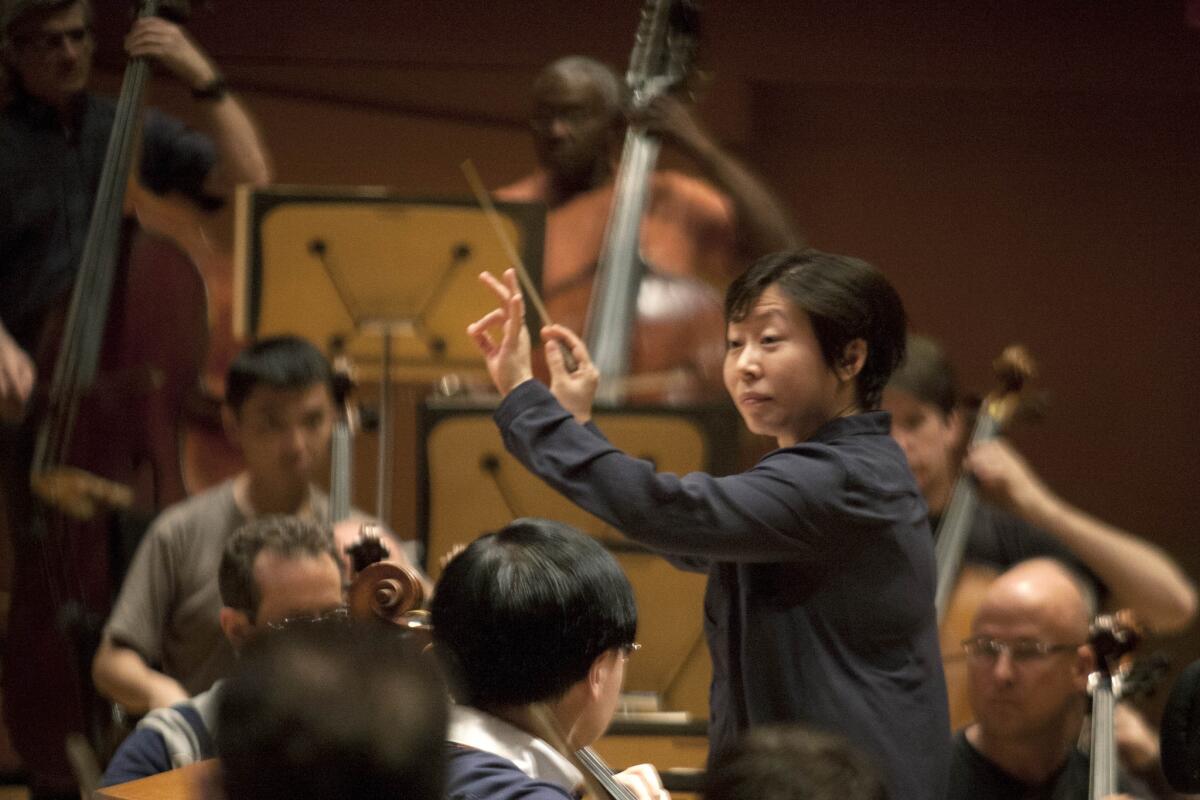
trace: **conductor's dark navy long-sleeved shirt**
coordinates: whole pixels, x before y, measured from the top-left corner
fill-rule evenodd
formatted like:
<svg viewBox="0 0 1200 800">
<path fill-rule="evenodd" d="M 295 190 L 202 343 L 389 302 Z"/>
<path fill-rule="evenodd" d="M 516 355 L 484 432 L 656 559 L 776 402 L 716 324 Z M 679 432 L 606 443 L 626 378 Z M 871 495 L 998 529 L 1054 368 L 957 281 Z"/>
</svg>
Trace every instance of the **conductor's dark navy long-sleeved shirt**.
<svg viewBox="0 0 1200 800">
<path fill-rule="evenodd" d="M 656 473 L 533 380 L 496 421 L 509 451 L 581 507 L 708 563 L 710 753 L 756 724 L 805 722 L 878 759 L 893 798 L 942 800 L 932 536 L 888 414 L 832 420 L 726 477 Z"/>
</svg>

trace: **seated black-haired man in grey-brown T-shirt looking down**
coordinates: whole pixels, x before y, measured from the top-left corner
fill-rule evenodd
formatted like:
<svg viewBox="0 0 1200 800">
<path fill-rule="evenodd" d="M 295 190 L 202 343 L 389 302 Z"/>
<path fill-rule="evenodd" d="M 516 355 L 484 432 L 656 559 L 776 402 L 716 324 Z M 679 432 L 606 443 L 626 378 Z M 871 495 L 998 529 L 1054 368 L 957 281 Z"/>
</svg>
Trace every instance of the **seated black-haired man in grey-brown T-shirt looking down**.
<svg viewBox="0 0 1200 800">
<path fill-rule="evenodd" d="M 313 486 L 332 419 L 330 367 L 317 348 L 281 336 L 244 349 L 229 366 L 223 419 L 245 471 L 155 519 L 92 662 L 100 691 L 133 712 L 187 699 L 232 669 L 216 576 L 234 530 L 269 513 L 329 522 L 329 500 Z M 390 549 L 406 559 L 395 541 Z"/>
</svg>

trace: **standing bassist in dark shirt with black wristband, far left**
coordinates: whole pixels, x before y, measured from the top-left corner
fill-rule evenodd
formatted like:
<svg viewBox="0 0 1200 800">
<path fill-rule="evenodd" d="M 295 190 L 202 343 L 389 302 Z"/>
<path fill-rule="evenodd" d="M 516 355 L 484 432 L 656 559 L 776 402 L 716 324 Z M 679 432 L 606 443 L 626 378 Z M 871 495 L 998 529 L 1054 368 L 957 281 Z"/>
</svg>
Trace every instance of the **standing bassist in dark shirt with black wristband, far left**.
<svg viewBox="0 0 1200 800">
<path fill-rule="evenodd" d="M 83 251 L 115 103 L 85 91 L 95 50 L 89 0 L 0 0 L 0 420 L 22 416 L 35 375 L 29 353 L 50 307 L 71 288 Z M 178 25 L 139 19 L 131 56 L 192 89 L 203 133 L 148 112 L 138 176 L 211 209 L 270 170 L 245 108 L 216 65 Z"/>
</svg>

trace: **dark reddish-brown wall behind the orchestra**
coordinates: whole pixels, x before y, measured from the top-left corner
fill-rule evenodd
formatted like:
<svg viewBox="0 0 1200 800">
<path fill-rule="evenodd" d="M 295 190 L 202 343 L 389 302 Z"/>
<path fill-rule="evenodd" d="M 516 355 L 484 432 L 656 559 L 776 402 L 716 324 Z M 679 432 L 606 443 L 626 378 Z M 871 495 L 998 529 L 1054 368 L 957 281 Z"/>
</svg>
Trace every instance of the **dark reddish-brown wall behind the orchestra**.
<svg viewBox="0 0 1200 800">
<path fill-rule="evenodd" d="M 110 83 L 127 4 L 97 5 Z M 1184 0 L 707 5 L 708 125 L 814 245 L 889 273 L 968 389 L 1027 344 L 1052 407 L 1015 433 L 1021 450 L 1200 575 L 1200 29 Z M 464 157 L 492 185 L 532 166 L 540 66 L 620 67 L 636 19 L 617 0 L 214 0 L 192 30 L 280 182 L 457 194 Z M 191 113 L 170 86 L 156 102 Z M 1194 631 L 1160 644 L 1177 666 L 1200 655 Z"/>
</svg>

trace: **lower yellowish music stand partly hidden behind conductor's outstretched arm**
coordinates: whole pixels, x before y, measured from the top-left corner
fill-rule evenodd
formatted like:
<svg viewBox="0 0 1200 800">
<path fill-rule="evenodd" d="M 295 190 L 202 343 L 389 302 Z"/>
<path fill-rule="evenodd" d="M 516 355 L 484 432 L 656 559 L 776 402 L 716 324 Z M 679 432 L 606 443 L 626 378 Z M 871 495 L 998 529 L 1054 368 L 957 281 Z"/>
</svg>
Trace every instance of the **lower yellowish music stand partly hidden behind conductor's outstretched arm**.
<svg viewBox="0 0 1200 800">
<path fill-rule="evenodd" d="M 677 475 L 737 469 L 737 423 L 730 407 L 598 409 L 594 420 L 619 449 Z M 421 414 L 425 447 L 421 529 L 431 577 L 442 559 L 516 517 L 565 522 L 607 547 L 634 587 L 638 636 L 649 646 L 626 666 L 625 688 L 664 708 L 708 716 L 712 679 L 703 640 L 706 576 L 683 572 L 550 489 L 500 439 L 490 409 L 432 397 Z"/>
</svg>

